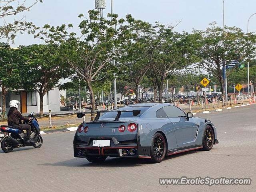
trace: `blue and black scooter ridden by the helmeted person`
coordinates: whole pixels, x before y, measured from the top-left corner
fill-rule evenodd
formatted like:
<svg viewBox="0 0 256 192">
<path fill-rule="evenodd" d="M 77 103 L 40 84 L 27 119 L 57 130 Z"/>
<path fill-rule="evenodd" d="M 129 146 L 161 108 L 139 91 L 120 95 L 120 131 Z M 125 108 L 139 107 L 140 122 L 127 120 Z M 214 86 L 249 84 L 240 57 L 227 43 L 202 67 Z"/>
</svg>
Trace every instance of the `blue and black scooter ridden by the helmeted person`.
<svg viewBox="0 0 256 192">
<path fill-rule="evenodd" d="M 31 126 L 31 140 L 27 141 L 27 134 L 23 130 L 13 128 L 12 126 L 1 125 L 0 126 L 0 142 L 1 148 L 4 152 L 12 152 L 14 148 L 33 146 L 34 148 L 40 148 L 43 144 L 43 138 L 40 135 L 40 128 L 37 119 L 33 116 L 32 112 L 28 115 L 31 120 L 28 122 L 23 122 L 24 124 L 29 124 Z"/>
</svg>

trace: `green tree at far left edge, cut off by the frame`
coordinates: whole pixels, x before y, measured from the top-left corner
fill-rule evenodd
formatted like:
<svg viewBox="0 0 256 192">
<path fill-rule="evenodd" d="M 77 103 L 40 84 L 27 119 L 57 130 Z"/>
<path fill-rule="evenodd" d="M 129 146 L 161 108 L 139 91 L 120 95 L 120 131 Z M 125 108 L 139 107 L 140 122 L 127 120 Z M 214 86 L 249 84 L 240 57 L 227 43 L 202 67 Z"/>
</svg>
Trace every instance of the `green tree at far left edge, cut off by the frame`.
<svg viewBox="0 0 256 192">
<path fill-rule="evenodd" d="M 6 93 L 20 88 L 21 52 L 10 48 L 8 43 L 0 43 L 0 86 L 2 89 L 2 117 L 6 113 Z"/>
</svg>

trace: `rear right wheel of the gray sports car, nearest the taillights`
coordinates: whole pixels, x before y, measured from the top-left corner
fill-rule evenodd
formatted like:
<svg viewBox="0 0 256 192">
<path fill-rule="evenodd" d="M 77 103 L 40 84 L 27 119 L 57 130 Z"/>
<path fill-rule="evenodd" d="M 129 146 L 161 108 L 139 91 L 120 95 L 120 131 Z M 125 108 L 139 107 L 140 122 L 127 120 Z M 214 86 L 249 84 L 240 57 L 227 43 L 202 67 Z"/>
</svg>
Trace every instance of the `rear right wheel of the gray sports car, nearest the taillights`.
<svg viewBox="0 0 256 192">
<path fill-rule="evenodd" d="M 166 156 L 166 140 L 160 133 L 154 134 L 150 147 L 151 162 L 160 163 Z"/>
</svg>

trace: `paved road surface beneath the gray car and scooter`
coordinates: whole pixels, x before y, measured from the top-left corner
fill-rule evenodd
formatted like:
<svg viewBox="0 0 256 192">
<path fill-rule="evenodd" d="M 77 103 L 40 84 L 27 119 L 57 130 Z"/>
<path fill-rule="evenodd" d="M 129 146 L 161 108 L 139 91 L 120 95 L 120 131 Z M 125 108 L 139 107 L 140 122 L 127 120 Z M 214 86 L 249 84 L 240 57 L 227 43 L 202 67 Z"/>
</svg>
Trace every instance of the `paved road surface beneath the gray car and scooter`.
<svg viewBox="0 0 256 192">
<path fill-rule="evenodd" d="M 0 150 L 0 191 L 146 192 L 256 191 L 256 105 L 202 114 L 218 128 L 219 144 L 208 152 L 176 154 L 159 164 L 143 159 L 108 158 L 103 164 L 73 158 L 74 132 L 43 135 L 44 145 Z M 181 176 L 251 178 L 240 185 L 160 185 L 159 178 Z"/>
</svg>

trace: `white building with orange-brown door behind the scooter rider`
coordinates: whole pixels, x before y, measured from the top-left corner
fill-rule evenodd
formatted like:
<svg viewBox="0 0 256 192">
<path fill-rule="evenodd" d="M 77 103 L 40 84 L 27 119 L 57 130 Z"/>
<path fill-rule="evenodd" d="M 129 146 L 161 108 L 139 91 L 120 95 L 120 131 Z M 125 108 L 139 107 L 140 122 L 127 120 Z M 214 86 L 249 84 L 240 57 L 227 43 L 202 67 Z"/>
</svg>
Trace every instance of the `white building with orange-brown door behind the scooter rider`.
<svg viewBox="0 0 256 192">
<path fill-rule="evenodd" d="M 0 98 L 0 106 L 2 106 L 1 92 Z M 20 102 L 18 110 L 22 113 L 40 112 L 40 97 L 36 90 L 25 91 L 22 89 L 8 92 L 6 94 L 6 113 L 10 109 L 9 102 L 11 100 L 18 100 Z M 54 88 L 44 95 L 43 112 L 48 112 L 48 110 L 52 110 L 52 112 L 60 111 L 60 90 L 58 88 Z"/>
</svg>

